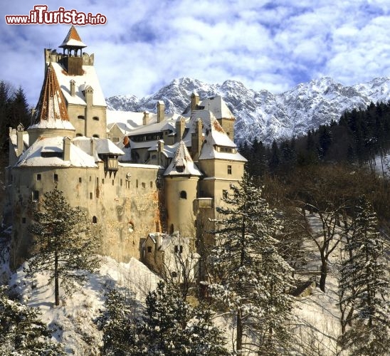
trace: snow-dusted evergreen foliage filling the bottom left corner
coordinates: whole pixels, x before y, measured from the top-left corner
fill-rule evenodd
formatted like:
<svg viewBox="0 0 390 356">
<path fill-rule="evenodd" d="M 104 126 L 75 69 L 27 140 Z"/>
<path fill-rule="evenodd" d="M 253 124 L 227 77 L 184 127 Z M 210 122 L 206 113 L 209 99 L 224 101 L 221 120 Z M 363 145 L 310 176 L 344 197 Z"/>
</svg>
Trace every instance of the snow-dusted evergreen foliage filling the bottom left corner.
<svg viewBox="0 0 390 356">
<path fill-rule="evenodd" d="M 6 286 L 0 287 L 0 355 L 65 355 L 63 345 L 51 342 L 38 311 L 10 300 Z"/>
</svg>

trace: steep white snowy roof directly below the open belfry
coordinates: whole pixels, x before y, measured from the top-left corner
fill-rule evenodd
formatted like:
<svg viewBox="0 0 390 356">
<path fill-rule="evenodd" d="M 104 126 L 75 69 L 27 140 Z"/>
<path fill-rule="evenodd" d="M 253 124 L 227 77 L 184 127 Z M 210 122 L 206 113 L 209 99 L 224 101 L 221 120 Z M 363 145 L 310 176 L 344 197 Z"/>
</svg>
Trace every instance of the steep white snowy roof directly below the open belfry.
<svg viewBox="0 0 390 356">
<path fill-rule="evenodd" d="M 93 105 L 107 106 L 94 66 L 83 66 L 83 75 L 68 75 L 60 63 L 51 63 L 60 83 L 60 88 L 69 104 L 87 105 L 83 90 L 90 85 L 93 88 Z M 70 95 L 70 80 L 75 81 L 75 95 Z"/>
</svg>

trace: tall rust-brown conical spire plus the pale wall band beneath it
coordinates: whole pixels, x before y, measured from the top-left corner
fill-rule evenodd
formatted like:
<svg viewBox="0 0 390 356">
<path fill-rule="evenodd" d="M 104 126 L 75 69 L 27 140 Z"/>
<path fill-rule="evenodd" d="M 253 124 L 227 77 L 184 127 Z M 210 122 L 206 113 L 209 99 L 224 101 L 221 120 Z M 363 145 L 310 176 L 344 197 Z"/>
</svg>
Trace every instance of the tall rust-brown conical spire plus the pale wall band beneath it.
<svg viewBox="0 0 390 356">
<path fill-rule="evenodd" d="M 33 115 L 32 125 L 28 127 L 27 131 L 29 146 L 40 136 L 75 136 L 75 127 L 69 121 L 65 98 L 51 64 L 46 68 L 45 79 Z"/>
</svg>

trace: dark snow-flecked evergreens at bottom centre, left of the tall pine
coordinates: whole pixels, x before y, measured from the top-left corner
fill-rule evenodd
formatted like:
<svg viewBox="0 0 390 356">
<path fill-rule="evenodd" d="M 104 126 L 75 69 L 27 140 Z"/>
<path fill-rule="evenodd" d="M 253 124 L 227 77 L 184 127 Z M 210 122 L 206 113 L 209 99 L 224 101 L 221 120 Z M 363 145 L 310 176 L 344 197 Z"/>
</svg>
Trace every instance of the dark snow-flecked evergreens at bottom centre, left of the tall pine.
<svg viewBox="0 0 390 356">
<path fill-rule="evenodd" d="M 142 355 L 228 355 L 210 310 L 191 308 L 177 290 L 163 282 L 147 295 L 146 304 L 138 334 Z"/>
</svg>

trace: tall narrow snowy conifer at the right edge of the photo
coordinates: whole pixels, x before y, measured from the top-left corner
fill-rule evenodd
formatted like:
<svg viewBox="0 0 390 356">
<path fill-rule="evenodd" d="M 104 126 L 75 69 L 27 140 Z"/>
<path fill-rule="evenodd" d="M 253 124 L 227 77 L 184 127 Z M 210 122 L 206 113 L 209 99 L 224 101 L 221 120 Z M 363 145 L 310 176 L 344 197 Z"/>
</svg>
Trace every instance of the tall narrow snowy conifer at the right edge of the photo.
<svg viewBox="0 0 390 356">
<path fill-rule="evenodd" d="M 360 197 L 339 281 L 341 304 L 353 308 L 347 320 L 351 327 L 340 338 L 350 355 L 390 350 L 389 270 L 377 224 L 371 204 Z"/>
</svg>

